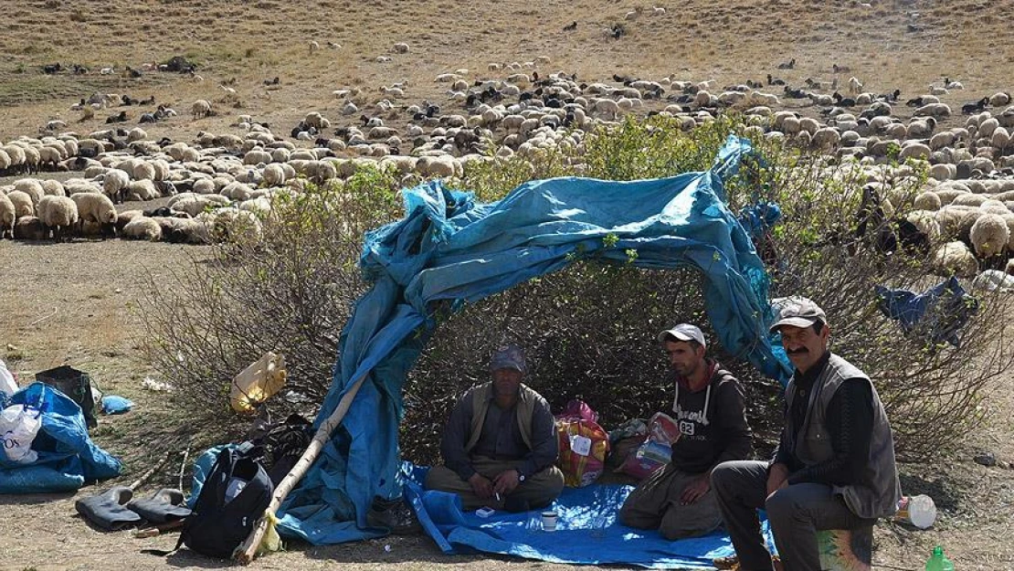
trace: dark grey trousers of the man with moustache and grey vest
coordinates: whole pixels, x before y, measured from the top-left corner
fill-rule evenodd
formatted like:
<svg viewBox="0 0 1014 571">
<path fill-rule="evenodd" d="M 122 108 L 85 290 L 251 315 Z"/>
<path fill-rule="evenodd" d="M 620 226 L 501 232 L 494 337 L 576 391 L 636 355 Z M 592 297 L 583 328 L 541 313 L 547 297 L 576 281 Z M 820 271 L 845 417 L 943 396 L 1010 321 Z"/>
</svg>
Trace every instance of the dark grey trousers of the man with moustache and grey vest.
<svg viewBox="0 0 1014 571">
<path fill-rule="evenodd" d="M 793 484 L 768 496 L 768 462 L 727 461 L 711 473 L 725 527 L 742 571 L 771 571 L 757 509 L 768 512 L 785 571 L 820 571 L 818 529 L 855 529 L 873 520 L 859 517 L 824 484 Z"/>
</svg>

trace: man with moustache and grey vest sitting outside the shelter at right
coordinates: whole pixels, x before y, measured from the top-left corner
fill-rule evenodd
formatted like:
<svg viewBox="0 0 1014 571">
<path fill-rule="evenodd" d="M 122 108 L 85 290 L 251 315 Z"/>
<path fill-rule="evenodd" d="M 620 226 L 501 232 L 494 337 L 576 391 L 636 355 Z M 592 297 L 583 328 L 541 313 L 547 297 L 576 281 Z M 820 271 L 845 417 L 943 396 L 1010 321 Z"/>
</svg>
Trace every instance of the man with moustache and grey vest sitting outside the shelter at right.
<svg viewBox="0 0 1014 571">
<path fill-rule="evenodd" d="M 816 532 L 892 515 L 901 498 L 887 415 L 870 378 L 827 350 L 823 310 L 805 297 L 776 299 L 772 332 L 796 370 L 772 461 L 715 468 L 725 526 L 742 571 L 770 571 L 757 509 L 768 512 L 786 571 L 819 571 Z"/>
</svg>

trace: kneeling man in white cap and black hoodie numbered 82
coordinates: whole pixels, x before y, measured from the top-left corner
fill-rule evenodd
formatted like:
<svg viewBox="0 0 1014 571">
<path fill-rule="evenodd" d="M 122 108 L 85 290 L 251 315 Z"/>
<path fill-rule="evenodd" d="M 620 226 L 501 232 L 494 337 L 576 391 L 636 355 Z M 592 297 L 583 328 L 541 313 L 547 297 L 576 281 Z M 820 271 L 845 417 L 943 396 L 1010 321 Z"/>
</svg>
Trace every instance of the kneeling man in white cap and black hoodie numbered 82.
<svg viewBox="0 0 1014 571">
<path fill-rule="evenodd" d="M 722 523 L 711 469 L 750 453 L 750 429 L 743 414 L 743 390 L 732 373 L 705 358 L 704 334 L 680 324 L 659 334 L 675 386 L 673 417 L 679 439 L 664 469 L 655 471 L 627 497 L 620 521 L 658 529 L 666 540 L 703 536 Z"/>
</svg>

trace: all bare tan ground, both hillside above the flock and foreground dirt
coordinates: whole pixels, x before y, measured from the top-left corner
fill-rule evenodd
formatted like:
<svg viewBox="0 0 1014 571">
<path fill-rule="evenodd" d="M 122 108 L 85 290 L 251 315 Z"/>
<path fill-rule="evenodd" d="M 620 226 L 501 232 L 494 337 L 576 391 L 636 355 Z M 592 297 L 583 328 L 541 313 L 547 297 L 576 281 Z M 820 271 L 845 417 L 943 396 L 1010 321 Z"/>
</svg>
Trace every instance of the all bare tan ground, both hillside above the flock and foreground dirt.
<svg viewBox="0 0 1014 571">
<path fill-rule="evenodd" d="M 93 90 L 138 98 L 154 94 L 157 101 L 180 112 L 177 118 L 145 126 L 152 138 L 189 141 L 201 130 L 234 130 L 230 125 L 238 114 L 252 115 L 287 133 L 307 112 L 319 111 L 339 127 L 355 119 L 340 116 L 343 101 L 332 96 L 335 89 L 360 86 L 378 99 L 381 85 L 408 81 L 404 104 L 423 98 L 444 102 L 446 85 L 434 82 L 437 74 L 467 68 L 469 78 L 493 77 L 498 75 L 487 72 L 490 63 L 526 62 L 537 56 L 552 60 L 544 71 L 577 73 L 589 82 L 620 73 L 648 79 L 715 79 L 724 85 L 773 73 L 799 85 L 808 77 L 829 81 L 835 77 L 831 66 L 838 64 L 850 68 L 838 74 L 843 83 L 855 75 L 869 90 L 899 87 L 902 98 L 925 93 L 931 82 L 939 85 L 949 76 L 965 86 L 943 97 L 952 106 L 1010 88 L 1014 28 L 1006 25 L 1003 14 L 1010 13 L 1012 0 L 886 0 L 871 7 L 851 0 L 666 0 L 655 5 L 665 7 L 666 13 L 652 15 L 651 5 L 631 0 L 106 0 L 100 10 L 91 3 L 29 0 L 5 9 L 0 138 L 33 136 L 51 119 L 63 119 L 80 133 L 104 128 L 104 117 L 114 110 L 83 122 L 78 112 L 69 111 Z M 639 17 L 625 20 L 635 9 L 641 10 Z M 563 31 L 572 21 L 578 22 L 577 29 Z M 602 29 L 615 22 L 624 22 L 628 34 L 619 41 L 606 39 Z M 310 51 L 310 41 L 320 49 Z M 409 43 L 410 52 L 394 54 L 395 42 Z M 105 66 L 118 71 L 139 68 L 175 55 L 198 62 L 200 79 L 97 73 Z M 392 60 L 378 63 L 378 56 Z M 795 69 L 777 69 L 790 58 L 797 60 Z M 83 64 L 91 72 L 42 73 L 42 65 L 57 61 Z M 278 86 L 264 85 L 265 79 L 276 76 Z M 236 90 L 238 104 L 226 98 L 225 87 Z M 212 100 L 218 115 L 192 119 L 189 108 L 197 98 Z M 130 110 L 134 120 L 128 126 L 136 124 L 139 113 Z M 141 387 L 145 376 L 157 374 L 141 351 L 145 334 L 138 299 L 151 283 L 148 276 L 159 287 L 160 277 L 205 255 L 202 247 L 166 243 L 0 240 L 0 354 L 22 379 L 72 364 L 89 371 L 103 390 L 137 403 L 128 415 L 101 418 L 94 432 L 100 445 L 124 458 L 122 482 L 130 482 L 158 459 L 153 442 L 193 428 L 179 424 L 163 395 Z M 875 567 L 922 569 L 932 547 L 940 544 L 959 569 L 1014 568 L 1014 543 L 1009 540 L 1014 471 L 971 460 L 979 451 L 990 450 L 1004 466 L 1014 461 L 1012 380 L 998 381 L 984 401 L 988 424 L 967 435 L 958 454 L 932 465 L 902 467 L 906 492 L 930 494 L 941 515 L 926 531 L 880 523 Z M 74 515 L 74 499 L 104 487 L 86 488 L 78 496 L 0 496 L 0 569 L 223 566 L 186 552 L 167 561 L 139 553 L 168 549 L 174 536 L 134 540 L 127 532 L 89 527 Z M 567 567 L 445 557 L 423 538 L 293 546 L 251 567 L 336 565 Z"/>
</svg>

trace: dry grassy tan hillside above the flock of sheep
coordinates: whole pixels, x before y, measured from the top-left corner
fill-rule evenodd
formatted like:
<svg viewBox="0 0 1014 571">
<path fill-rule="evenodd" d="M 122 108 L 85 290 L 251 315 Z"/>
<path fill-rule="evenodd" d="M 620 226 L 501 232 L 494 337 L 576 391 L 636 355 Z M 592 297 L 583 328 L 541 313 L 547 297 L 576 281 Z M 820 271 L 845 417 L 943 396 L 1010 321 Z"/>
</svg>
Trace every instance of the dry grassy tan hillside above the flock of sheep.
<svg viewBox="0 0 1014 571">
<path fill-rule="evenodd" d="M 769 72 L 795 84 L 807 77 L 829 80 L 838 64 L 850 70 L 840 74 L 843 83 L 856 75 L 869 90 L 900 87 L 906 96 L 950 76 L 966 90 L 948 102 L 1006 88 L 1004 70 L 1014 59 L 1014 32 L 999 19 L 1014 5 L 1010 0 L 655 5 L 666 12 L 655 15 L 651 4 L 631 0 L 35 0 L 12 6 L 0 34 L 0 52 L 8 56 L 0 62 L 0 137 L 33 134 L 48 119 L 77 120 L 69 105 L 95 89 L 155 94 L 184 111 L 195 98 L 220 98 L 219 84 L 234 79 L 245 108 L 237 113 L 289 125 L 311 109 L 337 110 L 340 102 L 331 92 L 339 87 L 376 89 L 408 79 L 411 99 L 439 101 L 445 86 L 434 84 L 438 73 L 467 68 L 473 77 L 487 76 L 491 62 L 536 56 L 552 58 L 544 68 L 587 80 L 624 73 L 716 79 L 719 85 L 763 80 Z M 631 10 L 640 15 L 627 21 Z M 572 21 L 576 29 L 564 31 Z M 618 22 L 628 34 L 607 38 L 604 28 Z M 310 41 L 321 49 L 310 53 Z M 396 42 L 410 44 L 411 52 L 393 54 Z M 123 71 L 174 55 L 199 63 L 204 80 L 157 72 L 140 78 L 98 74 L 102 67 Z M 377 63 L 384 55 L 392 60 Z M 797 60 L 796 69 L 776 69 L 790 58 Z M 81 64 L 90 73 L 42 72 L 55 62 Z M 276 76 L 280 87 L 268 90 L 263 81 Z M 100 112 L 80 129 L 97 128 L 103 119 Z M 172 136 L 183 128 L 183 135 L 185 124 L 176 118 L 154 131 Z M 198 128 L 216 126 L 211 120 Z"/>
</svg>

